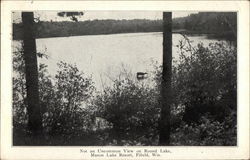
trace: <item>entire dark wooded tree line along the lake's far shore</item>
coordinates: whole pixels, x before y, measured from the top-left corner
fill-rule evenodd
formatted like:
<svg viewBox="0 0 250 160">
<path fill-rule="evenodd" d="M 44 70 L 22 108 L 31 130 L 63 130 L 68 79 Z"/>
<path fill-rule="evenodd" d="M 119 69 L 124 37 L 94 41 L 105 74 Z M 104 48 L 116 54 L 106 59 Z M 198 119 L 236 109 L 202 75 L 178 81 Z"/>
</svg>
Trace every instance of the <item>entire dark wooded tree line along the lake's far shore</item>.
<svg viewBox="0 0 250 160">
<path fill-rule="evenodd" d="M 36 23 L 36 38 L 67 37 L 136 32 L 161 32 L 162 20 L 87 20 L 40 21 Z M 173 19 L 173 30 L 186 34 L 213 34 L 216 38 L 236 39 L 236 12 L 200 12 Z M 22 39 L 22 23 L 13 24 L 13 38 Z"/>
</svg>

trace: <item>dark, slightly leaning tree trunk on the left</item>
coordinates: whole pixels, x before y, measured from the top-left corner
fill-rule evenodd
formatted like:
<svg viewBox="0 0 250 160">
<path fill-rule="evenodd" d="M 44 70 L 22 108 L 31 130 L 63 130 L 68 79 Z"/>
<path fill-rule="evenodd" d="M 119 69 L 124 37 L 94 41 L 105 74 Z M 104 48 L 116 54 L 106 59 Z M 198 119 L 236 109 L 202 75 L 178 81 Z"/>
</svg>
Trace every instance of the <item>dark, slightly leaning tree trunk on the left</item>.
<svg viewBox="0 0 250 160">
<path fill-rule="evenodd" d="M 23 45 L 28 102 L 28 128 L 35 137 L 41 136 L 42 118 L 39 104 L 38 67 L 34 36 L 33 12 L 22 12 Z"/>
</svg>

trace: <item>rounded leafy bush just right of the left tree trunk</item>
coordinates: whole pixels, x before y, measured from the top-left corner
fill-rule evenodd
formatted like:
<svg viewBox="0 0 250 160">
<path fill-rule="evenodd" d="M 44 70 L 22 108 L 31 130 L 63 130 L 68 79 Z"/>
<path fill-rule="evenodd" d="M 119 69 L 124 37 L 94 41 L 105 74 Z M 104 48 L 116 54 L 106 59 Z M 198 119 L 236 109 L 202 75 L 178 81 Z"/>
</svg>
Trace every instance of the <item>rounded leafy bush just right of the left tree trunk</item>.
<svg viewBox="0 0 250 160">
<path fill-rule="evenodd" d="M 85 78 L 76 66 L 63 62 L 58 66 L 59 71 L 55 75 L 55 84 L 54 86 L 49 85 L 53 91 L 47 92 L 50 94 L 46 94 L 46 91 L 40 92 L 45 93 L 41 100 L 45 100 L 44 105 L 47 105 L 44 113 L 44 125 L 45 128 L 50 128 L 49 132 L 53 135 L 75 136 L 83 130 L 83 126 L 87 123 L 89 115 L 85 111 L 85 106 L 94 88 L 91 79 Z"/>
</svg>

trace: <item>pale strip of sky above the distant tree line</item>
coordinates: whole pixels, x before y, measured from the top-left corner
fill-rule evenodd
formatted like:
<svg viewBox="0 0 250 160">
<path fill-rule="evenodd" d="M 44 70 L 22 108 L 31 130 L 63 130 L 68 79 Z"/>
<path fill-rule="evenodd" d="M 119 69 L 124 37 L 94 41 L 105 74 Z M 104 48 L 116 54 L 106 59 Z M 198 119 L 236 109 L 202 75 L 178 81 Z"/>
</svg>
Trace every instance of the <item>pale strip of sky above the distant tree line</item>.
<svg viewBox="0 0 250 160">
<path fill-rule="evenodd" d="M 189 14 L 197 12 L 173 12 L 173 18 L 185 17 Z M 36 11 L 35 17 L 39 17 L 41 21 L 68 21 L 69 17 L 59 17 L 56 11 Z M 78 17 L 79 21 L 94 20 L 94 19 L 162 19 L 162 12 L 160 11 L 84 11 L 84 15 Z M 13 13 L 14 23 L 21 21 L 21 12 Z"/>
</svg>

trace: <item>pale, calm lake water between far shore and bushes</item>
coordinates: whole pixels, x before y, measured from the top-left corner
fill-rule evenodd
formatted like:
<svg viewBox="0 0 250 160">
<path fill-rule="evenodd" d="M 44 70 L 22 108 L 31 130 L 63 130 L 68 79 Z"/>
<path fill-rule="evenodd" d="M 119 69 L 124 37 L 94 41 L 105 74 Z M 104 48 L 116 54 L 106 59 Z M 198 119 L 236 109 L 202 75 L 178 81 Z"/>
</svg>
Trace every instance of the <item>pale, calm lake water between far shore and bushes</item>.
<svg viewBox="0 0 250 160">
<path fill-rule="evenodd" d="M 195 46 L 205 46 L 217 40 L 203 36 L 188 37 Z M 183 40 L 180 34 L 173 34 L 173 58 L 178 61 L 176 45 Z M 162 33 L 126 33 L 111 35 L 89 35 L 37 39 L 37 51 L 48 55 L 38 59 L 48 65 L 48 71 L 55 75 L 59 61 L 75 64 L 86 75 L 92 76 L 97 89 L 111 84 L 114 79 L 126 73 L 150 72 L 152 62 L 162 63 Z M 15 41 L 14 46 L 19 45 Z"/>
</svg>

